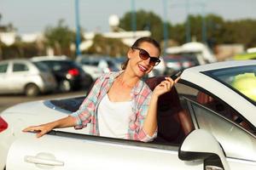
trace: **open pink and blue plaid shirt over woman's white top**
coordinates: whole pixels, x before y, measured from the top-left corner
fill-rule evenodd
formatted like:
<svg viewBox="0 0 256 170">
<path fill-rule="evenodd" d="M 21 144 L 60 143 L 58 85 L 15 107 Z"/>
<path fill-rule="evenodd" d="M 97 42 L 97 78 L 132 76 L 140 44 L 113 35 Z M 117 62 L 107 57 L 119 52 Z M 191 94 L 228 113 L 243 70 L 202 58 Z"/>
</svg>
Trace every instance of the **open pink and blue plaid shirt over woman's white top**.
<svg viewBox="0 0 256 170">
<path fill-rule="evenodd" d="M 108 93 L 115 77 L 121 74 L 119 72 L 110 72 L 99 77 L 94 87 L 90 90 L 88 96 L 84 99 L 79 110 L 73 112 L 71 116 L 76 118 L 76 129 L 81 129 L 91 123 L 90 134 L 100 135 L 97 119 L 97 107 L 104 95 Z M 132 99 L 132 115 L 129 120 L 129 127 L 127 128 L 127 139 L 141 140 L 148 142 L 156 137 L 156 132 L 150 137 L 143 129 L 143 122 L 148 113 L 148 105 L 151 98 L 152 91 L 148 85 L 143 82 L 137 82 L 137 85 L 131 90 Z"/>
</svg>

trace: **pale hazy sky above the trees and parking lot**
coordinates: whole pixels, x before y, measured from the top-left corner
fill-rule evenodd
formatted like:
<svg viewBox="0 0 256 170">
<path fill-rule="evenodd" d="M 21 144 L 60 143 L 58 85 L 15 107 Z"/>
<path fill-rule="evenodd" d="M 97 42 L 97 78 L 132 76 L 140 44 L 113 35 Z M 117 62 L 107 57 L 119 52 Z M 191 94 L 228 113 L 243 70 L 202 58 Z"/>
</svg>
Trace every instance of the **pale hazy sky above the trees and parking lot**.
<svg viewBox="0 0 256 170">
<path fill-rule="evenodd" d="M 79 0 L 79 22 L 85 31 L 110 31 L 109 16 L 116 14 L 121 18 L 133 8 L 153 11 L 172 24 L 183 22 L 187 14 L 211 13 L 224 20 L 256 20 L 256 0 Z M 0 0 L 0 14 L 0 25 L 12 23 L 20 34 L 44 31 L 61 19 L 71 29 L 76 26 L 75 0 Z"/>
</svg>

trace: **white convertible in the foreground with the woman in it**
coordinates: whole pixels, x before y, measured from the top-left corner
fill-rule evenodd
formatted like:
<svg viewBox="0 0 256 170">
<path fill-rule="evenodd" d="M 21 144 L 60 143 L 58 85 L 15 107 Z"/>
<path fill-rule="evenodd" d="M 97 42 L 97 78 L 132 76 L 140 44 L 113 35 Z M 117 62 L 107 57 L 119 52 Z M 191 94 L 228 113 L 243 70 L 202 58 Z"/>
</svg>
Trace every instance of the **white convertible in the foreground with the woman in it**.
<svg viewBox="0 0 256 170">
<path fill-rule="evenodd" d="M 256 169 L 256 60 L 225 61 L 183 71 L 158 106 L 158 137 L 143 143 L 55 129 L 37 139 L 21 133 L 79 108 L 84 97 L 15 105 L 0 115 L 0 168 Z M 164 77 L 147 80 L 150 88 Z"/>
</svg>

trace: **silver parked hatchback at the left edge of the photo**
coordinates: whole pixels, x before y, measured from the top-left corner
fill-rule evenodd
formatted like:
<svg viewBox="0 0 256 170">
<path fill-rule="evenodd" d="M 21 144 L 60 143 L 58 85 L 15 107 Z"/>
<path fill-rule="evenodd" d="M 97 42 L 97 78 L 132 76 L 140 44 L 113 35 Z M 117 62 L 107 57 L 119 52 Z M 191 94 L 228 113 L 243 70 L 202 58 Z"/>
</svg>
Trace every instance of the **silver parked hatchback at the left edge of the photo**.
<svg viewBox="0 0 256 170">
<path fill-rule="evenodd" d="M 8 59 L 0 62 L 0 94 L 36 96 L 54 91 L 56 82 L 46 65 L 29 59 Z"/>
</svg>

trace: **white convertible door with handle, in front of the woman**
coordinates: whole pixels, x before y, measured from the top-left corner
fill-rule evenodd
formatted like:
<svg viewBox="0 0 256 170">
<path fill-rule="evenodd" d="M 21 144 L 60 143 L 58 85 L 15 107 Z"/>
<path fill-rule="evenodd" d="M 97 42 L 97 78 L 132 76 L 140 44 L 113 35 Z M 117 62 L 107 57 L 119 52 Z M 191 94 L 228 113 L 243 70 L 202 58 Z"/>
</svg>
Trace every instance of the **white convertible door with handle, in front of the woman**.
<svg viewBox="0 0 256 170">
<path fill-rule="evenodd" d="M 37 139 L 34 133 L 26 133 L 17 139 L 10 147 L 6 169 L 203 169 L 202 161 L 179 160 L 174 145 L 55 134 Z"/>
</svg>

